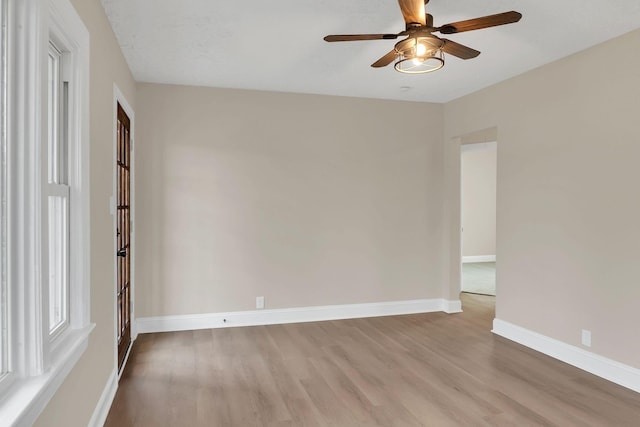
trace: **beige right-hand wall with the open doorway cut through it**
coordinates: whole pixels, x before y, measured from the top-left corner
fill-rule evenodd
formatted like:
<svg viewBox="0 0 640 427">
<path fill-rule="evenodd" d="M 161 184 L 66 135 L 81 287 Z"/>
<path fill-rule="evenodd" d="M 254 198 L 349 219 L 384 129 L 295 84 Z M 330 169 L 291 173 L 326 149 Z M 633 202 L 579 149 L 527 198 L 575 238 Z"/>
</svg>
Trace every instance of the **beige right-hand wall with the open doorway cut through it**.
<svg viewBox="0 0 640 427">
<path fill-rule="evenodd" d="M 457 145 L 496 127 L 497 317 L 573 345 L 589 329 L 592 351 L 636 368 L 638 45 L 634 31 L 448 103 L 444 205 L 456 259 Z"/>
</svg>

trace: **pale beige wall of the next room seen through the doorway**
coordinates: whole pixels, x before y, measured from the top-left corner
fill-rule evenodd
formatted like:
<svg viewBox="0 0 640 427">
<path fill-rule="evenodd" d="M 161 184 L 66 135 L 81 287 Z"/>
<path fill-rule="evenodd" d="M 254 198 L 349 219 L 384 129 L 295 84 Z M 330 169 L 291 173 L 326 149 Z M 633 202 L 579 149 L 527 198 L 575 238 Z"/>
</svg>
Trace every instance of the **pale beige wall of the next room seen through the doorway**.
<svg viewBox="0 0 640 427">
<path fill-rule="evenodd" d="M 496 254 L 496 144 L 462 145 L 462 256 Z"/>
</svg>

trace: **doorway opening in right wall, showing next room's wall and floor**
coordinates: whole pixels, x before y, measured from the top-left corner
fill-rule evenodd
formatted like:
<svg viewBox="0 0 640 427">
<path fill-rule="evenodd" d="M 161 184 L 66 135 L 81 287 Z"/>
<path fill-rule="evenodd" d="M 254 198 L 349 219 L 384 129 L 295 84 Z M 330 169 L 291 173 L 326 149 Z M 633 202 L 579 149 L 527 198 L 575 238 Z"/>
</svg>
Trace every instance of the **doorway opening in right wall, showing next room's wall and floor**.
<svg viewBox="0 0 640 427">
<path fill-rule="evenodd" d="M 460 146 L 461 291 L 496 295 L 497 143 Z"/>
</svg>

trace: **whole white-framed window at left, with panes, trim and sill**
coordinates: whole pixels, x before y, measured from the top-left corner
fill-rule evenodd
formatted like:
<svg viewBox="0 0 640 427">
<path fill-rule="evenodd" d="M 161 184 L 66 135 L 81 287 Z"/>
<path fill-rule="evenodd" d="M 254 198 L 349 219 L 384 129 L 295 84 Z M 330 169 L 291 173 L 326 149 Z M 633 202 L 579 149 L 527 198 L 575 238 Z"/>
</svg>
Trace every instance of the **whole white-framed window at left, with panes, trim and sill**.
<svg viewBox="0 0 640 427">
<path fill-rule="evenodd" d="M 0 423 L 30 425 L 93 328 L 89 35 L 69 0 L 0 2 Z"/>
</svg>

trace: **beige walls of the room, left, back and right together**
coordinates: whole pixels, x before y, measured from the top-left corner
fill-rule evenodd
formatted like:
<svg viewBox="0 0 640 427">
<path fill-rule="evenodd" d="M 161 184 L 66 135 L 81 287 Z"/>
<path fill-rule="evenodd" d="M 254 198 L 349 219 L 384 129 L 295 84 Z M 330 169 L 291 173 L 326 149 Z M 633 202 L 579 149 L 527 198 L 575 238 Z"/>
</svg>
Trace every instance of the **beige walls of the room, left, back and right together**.
<svg viewBox="0 0 640 427">
<path fill-rule="evenodd" d="M 639 31 L 440 106 L 136 87 L 99 1 L 73 3 L 97 326 L 36 425 L 86 425 L 114 365 L 114 82 L 136 109 L 139 316 L 441 297 L 443 276 L 457 299 L 459 145 L 497 137 L 497 317 L 575 345 L 590 329 L 640 367 Z"/>
</svg>

